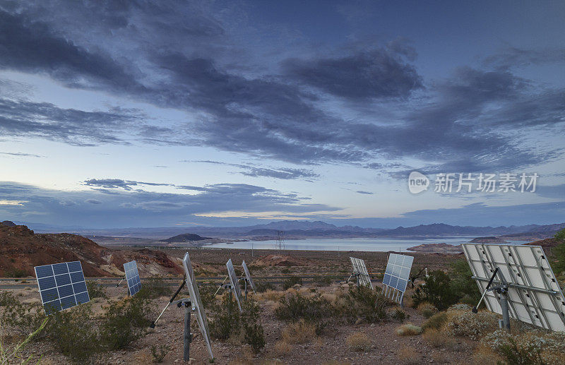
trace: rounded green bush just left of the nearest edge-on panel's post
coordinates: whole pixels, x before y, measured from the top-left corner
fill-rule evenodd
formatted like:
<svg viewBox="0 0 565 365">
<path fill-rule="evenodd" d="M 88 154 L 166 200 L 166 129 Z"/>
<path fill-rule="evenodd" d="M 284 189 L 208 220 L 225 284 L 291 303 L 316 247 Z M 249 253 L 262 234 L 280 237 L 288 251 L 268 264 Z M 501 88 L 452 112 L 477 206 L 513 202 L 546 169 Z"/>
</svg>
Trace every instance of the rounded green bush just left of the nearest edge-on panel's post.
<svg viewBox="0 0 565 365">
<path fill-rule="evenodd" d="M 107 349 L 128 347 L 147 333 L 154 316 L 153 304 L 142 296 L 109 302 L 100 325 L 102 345 Z"/>
</svg>

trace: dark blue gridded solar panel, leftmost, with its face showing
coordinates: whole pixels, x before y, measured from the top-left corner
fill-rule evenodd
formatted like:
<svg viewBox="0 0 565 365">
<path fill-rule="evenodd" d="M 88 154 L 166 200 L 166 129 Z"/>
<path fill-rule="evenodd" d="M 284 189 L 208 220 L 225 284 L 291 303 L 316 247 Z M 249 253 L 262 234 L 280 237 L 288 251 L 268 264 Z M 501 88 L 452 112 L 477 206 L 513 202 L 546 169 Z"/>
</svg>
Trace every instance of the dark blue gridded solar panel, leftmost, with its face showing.
<svg viewBox="0 0 565 365">
<path fill-rule="evenodd" d="M 88 303 L 88 289 L 80 261 L 35 266 L 45 314 Z"/>
</svg>

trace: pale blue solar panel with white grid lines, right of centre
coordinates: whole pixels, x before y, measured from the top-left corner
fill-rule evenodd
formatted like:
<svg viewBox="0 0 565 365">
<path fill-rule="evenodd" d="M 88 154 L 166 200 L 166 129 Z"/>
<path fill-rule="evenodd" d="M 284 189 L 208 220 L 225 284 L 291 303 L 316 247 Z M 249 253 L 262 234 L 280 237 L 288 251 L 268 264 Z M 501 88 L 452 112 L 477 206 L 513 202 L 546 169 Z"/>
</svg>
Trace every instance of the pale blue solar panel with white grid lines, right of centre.
<svg viewBox="0 0 565 365">
<path fill-rule="evenodd" d="M 391 253 L 388 256 L 386 270 L 383 276 L 384 294 L 386 297 L 402 303 L 404 292 L 410 281 L 410 270 L 412 270 L 414 257 Z"/>
</svg>

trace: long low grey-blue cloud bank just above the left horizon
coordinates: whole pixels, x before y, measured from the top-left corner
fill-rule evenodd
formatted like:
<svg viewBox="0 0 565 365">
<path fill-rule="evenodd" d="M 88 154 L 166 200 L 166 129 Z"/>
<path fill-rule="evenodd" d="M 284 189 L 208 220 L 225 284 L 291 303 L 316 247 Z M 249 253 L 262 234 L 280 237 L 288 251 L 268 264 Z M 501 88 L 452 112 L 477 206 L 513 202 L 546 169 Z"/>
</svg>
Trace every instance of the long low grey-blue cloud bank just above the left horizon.
<svg viewBox="0 0 565 365">
<path fill-rule="evenodd" d="M 107 181 L 109 182 L 109 181 Z M 119 183 L 115 184 L 116 186 Z M 138 227 L 175 225 L 196 215 L 230 211 L 261 213 L 316 213 L 340 208 L 308 204 L 294 193 L 283 193 L 247 184 L 191 186 L 196 193 L 153 193 L 114 189 L 114 194 L 99 191 L 56 191 L 36 186 L 0 183 L 0 193 L 20 205 L 0 205 L 2 217 L 33 222 L 54 217 L 49 224 L 73 222 L 85 227 Z M 61 203 L 62 202 L 62 203 Z M 220 218 L 209 219 L 210 222 Z"/>
</svg>

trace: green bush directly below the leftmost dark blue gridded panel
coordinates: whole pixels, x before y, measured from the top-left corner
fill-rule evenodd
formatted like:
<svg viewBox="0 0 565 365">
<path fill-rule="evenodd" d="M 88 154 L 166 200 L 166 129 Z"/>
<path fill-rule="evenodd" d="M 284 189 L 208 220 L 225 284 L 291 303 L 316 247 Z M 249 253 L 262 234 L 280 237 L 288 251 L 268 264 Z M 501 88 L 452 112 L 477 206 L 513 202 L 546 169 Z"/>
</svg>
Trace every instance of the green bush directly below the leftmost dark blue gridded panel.
<svg viewBox="0 0 565 365">
<path fill-rule="evenodd" d="M 49 340 L 73 362 L 85 362 L 102 350 L 91 316 L 91 304 L 52 314 Z"/>
</svg>

